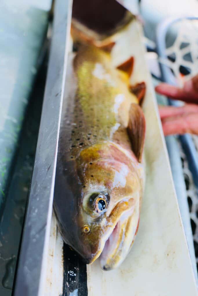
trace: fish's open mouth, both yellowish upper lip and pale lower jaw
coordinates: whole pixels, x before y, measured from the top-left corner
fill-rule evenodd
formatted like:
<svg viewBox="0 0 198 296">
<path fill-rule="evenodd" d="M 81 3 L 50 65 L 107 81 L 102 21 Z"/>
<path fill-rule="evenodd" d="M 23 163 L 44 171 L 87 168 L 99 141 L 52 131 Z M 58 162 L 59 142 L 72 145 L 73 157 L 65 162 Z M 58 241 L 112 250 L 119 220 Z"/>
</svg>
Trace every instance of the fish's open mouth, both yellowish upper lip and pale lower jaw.
<svg viewBox="0 0 198 296">
<path fill-rule="evenodd" d="M 136 202 L 135 202 L 136 200 Z M 137 234 L 140 218 L 141 198 L 137 196 L 119 202 L 107 219 L 104 235 L 94 256 L 86 261 L 93 263 L 99 258 L 101 268 L 105 271 L 115 269 L 126 258 Z M 121 214 L 117 216 L 118 209 Z M 116 218 L 115 218 L 116 216 Z"/>
</svg>

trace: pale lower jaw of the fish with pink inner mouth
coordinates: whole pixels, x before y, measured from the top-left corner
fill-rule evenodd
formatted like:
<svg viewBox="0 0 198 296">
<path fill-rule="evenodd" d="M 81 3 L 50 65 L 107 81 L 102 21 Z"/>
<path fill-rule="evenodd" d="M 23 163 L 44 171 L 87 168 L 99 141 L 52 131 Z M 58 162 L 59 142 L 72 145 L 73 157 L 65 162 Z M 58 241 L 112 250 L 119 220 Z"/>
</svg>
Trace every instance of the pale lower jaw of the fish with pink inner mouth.
<svg viewBox="0 0 198 296">
<path fill-rule="evenodd" d="M 126 258 L 137 233 L 139 214 L 137 207 L 133 207 L 121 215 L 99 256 L 103 270 L 118 267 Z"/>
</svg>

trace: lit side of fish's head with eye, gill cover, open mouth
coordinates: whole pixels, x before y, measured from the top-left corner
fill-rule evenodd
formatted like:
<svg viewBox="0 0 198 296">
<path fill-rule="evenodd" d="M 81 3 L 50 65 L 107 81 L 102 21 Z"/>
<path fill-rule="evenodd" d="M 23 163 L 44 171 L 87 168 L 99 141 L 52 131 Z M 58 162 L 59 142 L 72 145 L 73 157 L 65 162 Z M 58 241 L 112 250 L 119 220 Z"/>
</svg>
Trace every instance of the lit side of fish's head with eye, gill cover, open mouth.
<svg viewBox="0 0 198 296">
<path fill-rule="evenodd" d="M 113 269 L 123 262 L 137 233 L 142 165 L 130 152 L 106 142 L 81 151 L 77 174 L 82 184 L 77 251 L 86 263 L 100 256 L 101 267 Z"/>
</svg>

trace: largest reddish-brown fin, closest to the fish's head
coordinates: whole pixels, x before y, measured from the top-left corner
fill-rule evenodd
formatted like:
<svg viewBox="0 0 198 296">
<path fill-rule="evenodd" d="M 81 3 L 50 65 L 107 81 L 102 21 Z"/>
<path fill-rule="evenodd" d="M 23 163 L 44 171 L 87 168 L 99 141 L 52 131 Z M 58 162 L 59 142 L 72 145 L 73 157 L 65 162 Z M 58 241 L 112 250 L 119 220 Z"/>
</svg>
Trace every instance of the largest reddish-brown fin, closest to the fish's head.
<svg viewBox="0 0 198 296">
<path fill-rule="evenodd" d="M 131 104 L 127 132 L 131 140 L 132 150 L 139 162 L 142 161 L 145 131 L 145 117 L 141 107 L 137 104 Z"/>
</svg>

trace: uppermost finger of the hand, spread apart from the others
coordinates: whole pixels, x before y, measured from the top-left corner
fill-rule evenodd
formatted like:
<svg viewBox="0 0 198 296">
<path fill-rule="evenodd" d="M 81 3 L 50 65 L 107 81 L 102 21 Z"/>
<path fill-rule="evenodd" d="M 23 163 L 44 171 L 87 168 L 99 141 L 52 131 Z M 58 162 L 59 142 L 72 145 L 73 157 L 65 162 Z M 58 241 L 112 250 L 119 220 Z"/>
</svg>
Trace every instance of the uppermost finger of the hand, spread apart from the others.
<svg viewBox="0 0 198 296">
<path fill-rule="evenodd" d="M 168 96 L 171 99 L 182 100 L 189 103 L 198 103 L 198 93 L 192 86 L 192 81 L 187 81 L 183 89 L 172 86 L 168 83 L 160 83 L 155 87 L 155 91 L 164 96 Z M 188 91 L 186 90 L 186 87 Z M 190 89 L 190 90 L 189 90 Z"/>
</svg>

